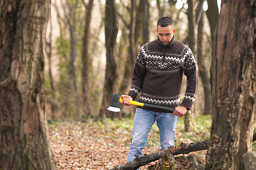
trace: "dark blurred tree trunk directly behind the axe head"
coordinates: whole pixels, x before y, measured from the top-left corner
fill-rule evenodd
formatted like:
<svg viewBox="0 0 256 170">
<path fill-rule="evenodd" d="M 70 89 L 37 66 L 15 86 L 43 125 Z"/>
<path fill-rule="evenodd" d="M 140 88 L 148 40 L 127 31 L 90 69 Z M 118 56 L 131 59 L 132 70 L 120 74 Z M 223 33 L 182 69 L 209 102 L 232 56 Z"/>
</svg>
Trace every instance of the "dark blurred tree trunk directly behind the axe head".
<svg viewBox="0 0 256 170">
<path fill-rule="evenodd" d="M 107 50 L 107 66 L 105 71 L 105 83 L 103 89 L 102 106 L 100 109 L 100 117 L 117 117 L 119 113 L 111 113 L 107 111 L 112 101 L 117 80 L 117 63 L 114 59 L 114 50 L 117 39 L 117 8 L 114 0 L 106 1 L 105 9 L 105 45 Z"/>
</svg>

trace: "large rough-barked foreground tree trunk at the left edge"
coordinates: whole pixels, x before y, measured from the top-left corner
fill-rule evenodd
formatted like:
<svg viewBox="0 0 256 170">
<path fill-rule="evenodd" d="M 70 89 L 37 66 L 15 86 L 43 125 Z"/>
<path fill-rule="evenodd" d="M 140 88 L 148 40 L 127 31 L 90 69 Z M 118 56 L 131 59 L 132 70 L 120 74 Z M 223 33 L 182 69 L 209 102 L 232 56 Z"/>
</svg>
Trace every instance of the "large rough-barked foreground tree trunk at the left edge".
<svg viewBox="0 0 256 170">
<path fill-rule="evenodd" d="M 55 169 L 43 90 L 49 7 L 0 3 L 0 169 Z"/>
</svg>

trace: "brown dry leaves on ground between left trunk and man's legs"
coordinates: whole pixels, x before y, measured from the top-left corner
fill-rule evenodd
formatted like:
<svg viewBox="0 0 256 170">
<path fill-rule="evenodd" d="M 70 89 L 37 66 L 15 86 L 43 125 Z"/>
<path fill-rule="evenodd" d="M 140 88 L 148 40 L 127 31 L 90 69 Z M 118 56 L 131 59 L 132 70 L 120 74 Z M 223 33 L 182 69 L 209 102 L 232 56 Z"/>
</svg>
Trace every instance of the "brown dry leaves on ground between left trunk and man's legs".
<svg viewBox="0 0 256 170">
<path fill-rule="evenodd" d="M 50 125 L 50 143 L 58 170 L 112 169 L 126 163 L 131 130 L 107 129 L 107 125 L 89 124 L 73 122 Z M 144 153 L 150 152 L 151 148 L 144 149 Z"/>
</svg>

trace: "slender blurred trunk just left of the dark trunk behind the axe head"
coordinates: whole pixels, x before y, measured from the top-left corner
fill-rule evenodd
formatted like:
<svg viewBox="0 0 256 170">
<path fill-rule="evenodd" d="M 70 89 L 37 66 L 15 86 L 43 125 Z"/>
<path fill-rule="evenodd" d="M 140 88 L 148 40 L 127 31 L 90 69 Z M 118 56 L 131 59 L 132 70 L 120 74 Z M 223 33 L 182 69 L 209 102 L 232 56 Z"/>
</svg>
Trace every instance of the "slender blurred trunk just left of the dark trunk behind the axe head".
<svg viewBox="0 0 256 170">
<path fill-rule="evenodd" d="M 85 115 L 91 115 L 90 95 L 89 95 L 89 72 L 90 72 L 90 57 L 89 57 L 89 44 L 90 44 L 90 23 L 92 18 L 93 0 L 90 0 L 86 7 L 85 12 L 85 27 L 84 35 L 82 38 L 82 106 Z"/>
</svg>

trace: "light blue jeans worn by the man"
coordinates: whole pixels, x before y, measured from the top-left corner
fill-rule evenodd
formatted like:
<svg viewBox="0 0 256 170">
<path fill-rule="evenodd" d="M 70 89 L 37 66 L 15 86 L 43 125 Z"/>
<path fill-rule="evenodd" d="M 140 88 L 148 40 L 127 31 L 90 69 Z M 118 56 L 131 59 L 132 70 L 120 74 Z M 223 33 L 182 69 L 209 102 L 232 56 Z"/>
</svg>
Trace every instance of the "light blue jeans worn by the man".
<svg viewBox="0 0 256 170">
<path fill-rule="evenodd" d="M 161 150 L 174 147 L 177 116 L 173 115 L 173 113 L 159 113 L 137 108 L 132 130 L 133 138 L 130 144 L 127 162 L 135 159 L 134 154 L 142 157 L 142 149 L 146 145 L 149 131 L 155 120 L 159 128 Z"/>
</svg>

